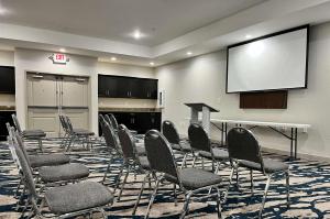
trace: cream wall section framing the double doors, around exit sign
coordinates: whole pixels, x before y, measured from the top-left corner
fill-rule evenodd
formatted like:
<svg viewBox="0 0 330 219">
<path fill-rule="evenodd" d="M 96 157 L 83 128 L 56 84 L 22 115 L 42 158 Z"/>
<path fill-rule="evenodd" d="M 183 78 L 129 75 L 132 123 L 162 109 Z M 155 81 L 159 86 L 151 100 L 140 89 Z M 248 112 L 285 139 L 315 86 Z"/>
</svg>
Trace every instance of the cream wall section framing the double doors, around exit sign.
<svg viewBox="0 0 330 219">
<path fill-rule="evenodd" d="M 69 62 L 66 65 L 55 65 L 48 58 L 53 53 L 16 48 L 14 52 L 15 66 L 15 102 L 18 119 L 25 128 L 26 122 L 26 72 L 41 72 L 64 75 L 89 76 L 90 80 L 90 129 L 97 130 L 97 58 L 87 56 L 68 55 Z"/>
</svg>

